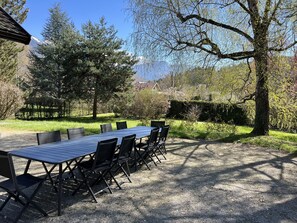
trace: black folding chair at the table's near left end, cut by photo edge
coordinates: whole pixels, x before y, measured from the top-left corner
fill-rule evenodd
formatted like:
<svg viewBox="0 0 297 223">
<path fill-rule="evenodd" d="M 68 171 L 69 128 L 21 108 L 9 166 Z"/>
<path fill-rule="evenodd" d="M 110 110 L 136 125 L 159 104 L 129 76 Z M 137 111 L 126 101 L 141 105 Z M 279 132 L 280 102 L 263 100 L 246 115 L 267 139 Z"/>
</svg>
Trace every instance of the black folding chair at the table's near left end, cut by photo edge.
<svg viewBox="0 0 297 223">
<path fill-rule="evenodd" d="M 17 222 L 21 218 L 29 205 L 34 207 L 44 216 L 47 216 L 47 213 L 33 201 L 33 198 L 40 189 L 44 179 L 32 176 L 28 173 L 16 176 L 12 158 L 5 151 L 0 151 L 0 175 L 8 178 L 0 182 L 0 188 L 8 193 L 8 197 L 1 205 L 0 211 L 2 211 L 11 198 L 14 198 L 15 201 L 23 205 L 23 208 L 15 215 L 13 222 Z M 35 189 L 33 191 L 30 190 L 30 192 L 32 192 L 28 195 L 26 189 L 33 188 L 33 186 L 36 186 Z M 24 193 L 24 190 L 26 190 L 26 193 Z"/>
</svg>

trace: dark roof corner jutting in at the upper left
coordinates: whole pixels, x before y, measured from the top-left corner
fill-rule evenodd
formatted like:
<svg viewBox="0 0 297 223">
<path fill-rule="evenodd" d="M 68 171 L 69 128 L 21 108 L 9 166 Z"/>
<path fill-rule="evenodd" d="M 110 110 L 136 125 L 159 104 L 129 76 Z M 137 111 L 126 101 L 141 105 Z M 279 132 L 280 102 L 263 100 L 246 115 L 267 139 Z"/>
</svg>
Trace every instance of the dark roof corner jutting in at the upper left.
<svg viewBox="0 0 297 223">
<path fill-rule="evenodd" d="M 29 44 L 31 35 L 0 7 L 0 38 Z"/>
</svg>

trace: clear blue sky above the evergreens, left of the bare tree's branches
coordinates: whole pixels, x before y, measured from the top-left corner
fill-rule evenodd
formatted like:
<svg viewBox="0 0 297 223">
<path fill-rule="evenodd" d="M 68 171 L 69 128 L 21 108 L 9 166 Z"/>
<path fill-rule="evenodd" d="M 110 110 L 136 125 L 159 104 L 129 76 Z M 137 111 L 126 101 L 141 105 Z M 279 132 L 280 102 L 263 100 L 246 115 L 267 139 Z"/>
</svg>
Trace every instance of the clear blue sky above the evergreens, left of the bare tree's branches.
<svg viewBox="0 0 297 223">
<path fill-rule="evenodd" d="M 27 19 L 22 26 L 42 40 L 41 32 L 49 18 L 49 9 L 60 3 L 61 8 L 74 22 L 77 29 L 88 20 L 99 22 L 103 16 L 107 25 L 113 25 L 118 37 L 127 40 L 132 33 L 132 20 L 127 12 L 127 0 L 27 0 Z"/>
</svg>

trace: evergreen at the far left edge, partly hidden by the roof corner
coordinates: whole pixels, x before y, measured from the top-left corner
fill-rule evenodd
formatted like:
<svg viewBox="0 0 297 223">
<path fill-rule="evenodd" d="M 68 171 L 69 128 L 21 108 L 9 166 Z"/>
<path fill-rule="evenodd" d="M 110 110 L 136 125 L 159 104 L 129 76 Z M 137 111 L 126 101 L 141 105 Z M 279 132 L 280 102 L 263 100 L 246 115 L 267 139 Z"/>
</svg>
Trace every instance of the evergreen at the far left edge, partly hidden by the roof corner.
<svg viewBox="0 0 297 223">
<path fill-rule="evenodd" d="M 24 22 L 28 9 L 25 8 L 26 0 L 8 1 L 0 0 L 0 6 L 11 15 L 18 23 Z M 23 47 L 16 43 L 0 39 L 0 81 L 13 82 L 18 66 L 17 55 Z"/>
</svg>

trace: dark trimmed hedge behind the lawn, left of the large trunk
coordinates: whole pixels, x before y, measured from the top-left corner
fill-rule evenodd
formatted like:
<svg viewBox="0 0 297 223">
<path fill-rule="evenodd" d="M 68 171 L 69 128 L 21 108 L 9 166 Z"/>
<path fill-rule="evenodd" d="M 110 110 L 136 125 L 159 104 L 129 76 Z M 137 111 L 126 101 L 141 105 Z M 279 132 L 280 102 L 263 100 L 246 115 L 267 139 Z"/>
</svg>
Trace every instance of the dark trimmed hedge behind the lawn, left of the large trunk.
<svg viewBox="0 0 297 223">
<path fill-rule="evenodd" d="M 249 119 L 244 107 L 226 103 L 214 103 L 204 101 L 170 101 L 170 108 L 167 113 L 169 118 L 184 119 L 185 114 L 193 106 L 200 109 L 199 121 L 212 121 L 233 123 L 235 125 L 247 125 Z"/>
</svg>

